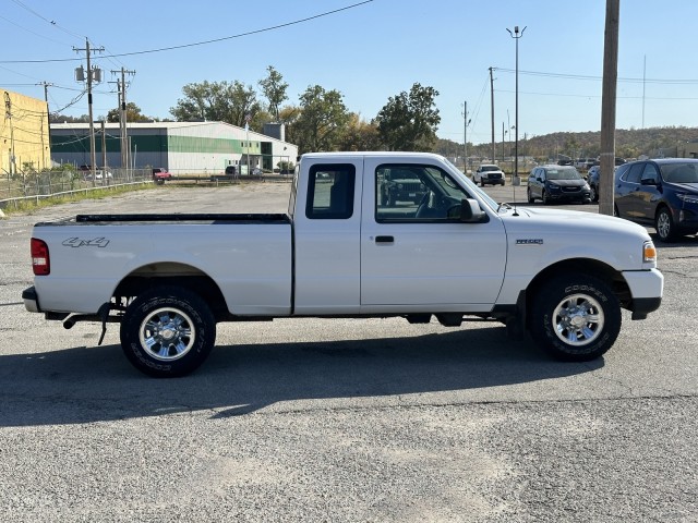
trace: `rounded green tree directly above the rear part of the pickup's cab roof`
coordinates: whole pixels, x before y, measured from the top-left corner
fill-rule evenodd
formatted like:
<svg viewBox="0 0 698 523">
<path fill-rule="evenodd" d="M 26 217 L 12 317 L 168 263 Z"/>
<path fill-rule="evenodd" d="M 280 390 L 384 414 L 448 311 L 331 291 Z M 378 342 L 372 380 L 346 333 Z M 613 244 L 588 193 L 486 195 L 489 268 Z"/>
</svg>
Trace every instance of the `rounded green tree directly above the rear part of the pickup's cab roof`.
<svg viewBox="0 0 698 523">
<path fill-rule="evenodd" d="M 341 93 L 314 85 L 299 98 L 301 111 L 292 124 L 299 153 L 337 150 L 350 118 Z"/>
</svg>

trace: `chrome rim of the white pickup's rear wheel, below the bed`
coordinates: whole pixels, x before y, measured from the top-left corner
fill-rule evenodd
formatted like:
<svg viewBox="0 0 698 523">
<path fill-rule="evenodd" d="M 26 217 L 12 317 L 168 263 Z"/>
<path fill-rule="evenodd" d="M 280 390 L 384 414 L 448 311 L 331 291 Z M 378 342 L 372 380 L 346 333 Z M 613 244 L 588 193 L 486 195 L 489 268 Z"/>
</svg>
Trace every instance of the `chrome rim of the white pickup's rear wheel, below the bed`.
<svg viewBox="0 0 698 523">
<path fill-rule="evenodd" d="M 139 329 L 141 346 L 160 362 L 184 357 L 194 345 L 196 329 L 182 311 L 158 308 L 148 314 Z"/>
</svg>

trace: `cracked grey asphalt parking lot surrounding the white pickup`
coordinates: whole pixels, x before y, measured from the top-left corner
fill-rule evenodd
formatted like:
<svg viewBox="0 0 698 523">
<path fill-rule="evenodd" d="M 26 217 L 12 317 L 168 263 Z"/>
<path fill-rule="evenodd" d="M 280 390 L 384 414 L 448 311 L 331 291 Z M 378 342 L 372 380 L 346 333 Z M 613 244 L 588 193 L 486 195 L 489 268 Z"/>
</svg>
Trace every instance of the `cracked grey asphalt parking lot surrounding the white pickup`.
<svg viewBox="0 0 698 523">
<path fill-rule="evenodd" d="M 99 326 L 20 303 L 36 221 L 284 211 L 288 187 L 165 185 L 0 220 L 3 521 L 698 521 L 695 236 L 658 244 L 662 307 L 624 313 L 583 364 L 494 323 L 282 319 L 222 324 L 197 373 L 158 380 L 116 326 L 96 346 Z"/>
</svg>

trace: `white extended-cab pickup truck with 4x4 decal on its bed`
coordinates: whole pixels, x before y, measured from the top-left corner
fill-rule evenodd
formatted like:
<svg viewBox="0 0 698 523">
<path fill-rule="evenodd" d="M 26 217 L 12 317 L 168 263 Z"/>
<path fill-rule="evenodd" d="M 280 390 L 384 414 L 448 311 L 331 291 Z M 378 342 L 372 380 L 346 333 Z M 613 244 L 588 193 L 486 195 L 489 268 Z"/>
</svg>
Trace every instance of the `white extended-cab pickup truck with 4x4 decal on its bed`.
<svg viewBox="0 0 698 523">
<path fill-rule="evenodd" d="M 421 181 L 421 202 L 385 203 L 393 171 Z M 303 155 L 288 214 L 79 215 L 37 223 L 31 251 L 25 307 L 65 328 L 99 321 L 103 338 L 120 323 L 153 376 L 198 367 L 219 321 L 309 316 L 495 319 L 587 361 L 614 343 L 622 308 L 643 319 L 663 291 L 642 227 L 497 204 L 418 153 Z"/>
</svg>

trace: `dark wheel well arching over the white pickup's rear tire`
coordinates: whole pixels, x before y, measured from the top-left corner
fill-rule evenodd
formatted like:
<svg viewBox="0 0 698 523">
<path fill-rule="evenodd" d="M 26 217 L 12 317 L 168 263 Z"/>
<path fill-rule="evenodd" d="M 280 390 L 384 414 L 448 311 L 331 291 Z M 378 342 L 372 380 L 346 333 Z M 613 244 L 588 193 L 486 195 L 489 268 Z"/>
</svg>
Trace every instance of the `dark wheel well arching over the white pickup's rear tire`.
<svg viewBox="0 0 698 523">
<path fill-rule="evenodd" d="M 186 289 L 204 300 L 219 320 L 228 314 L 226 299 L 216 282 L 208 275 L 183 264 L 151 264 L 136 269 L 117 285 L 113 297 L 134 299 L 140 293 L 161 285 Z"/>
</svg>

